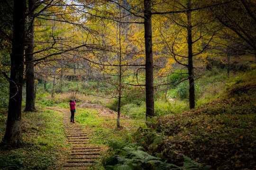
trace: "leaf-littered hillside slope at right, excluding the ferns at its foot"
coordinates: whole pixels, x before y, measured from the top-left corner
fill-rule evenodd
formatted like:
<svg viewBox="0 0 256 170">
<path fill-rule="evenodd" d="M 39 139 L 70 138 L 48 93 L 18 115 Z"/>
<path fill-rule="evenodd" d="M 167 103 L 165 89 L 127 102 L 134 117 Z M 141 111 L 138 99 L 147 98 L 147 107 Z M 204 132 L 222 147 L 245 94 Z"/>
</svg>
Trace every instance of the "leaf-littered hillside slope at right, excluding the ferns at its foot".
<svg viewBox="0 0 256 170">
<path fill-rule="evenodd" d="M 181 165 L 186 155 L 212 169 L 256 169 L 256 70 L 242 73 L 215 101 L 157 118 L 136 141 L 146 152 Z"/>
</svg>

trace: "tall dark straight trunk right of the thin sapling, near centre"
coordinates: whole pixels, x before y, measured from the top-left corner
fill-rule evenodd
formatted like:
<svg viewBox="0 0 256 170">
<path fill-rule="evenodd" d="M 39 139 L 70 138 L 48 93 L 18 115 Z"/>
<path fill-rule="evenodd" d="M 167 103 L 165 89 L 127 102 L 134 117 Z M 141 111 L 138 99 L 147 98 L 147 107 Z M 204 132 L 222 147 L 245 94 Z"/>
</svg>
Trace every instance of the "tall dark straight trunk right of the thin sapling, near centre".
<svg viewBox="0 0 256 170">
<path fill-rule="evenodd" d="M 154 84 L 153 84 L 153 53 L 152 53 L 152 23 L 151 0 L 144 0 L 144 29 L 146 54 L 146 118 L 154 117 Z"/>
</svg>

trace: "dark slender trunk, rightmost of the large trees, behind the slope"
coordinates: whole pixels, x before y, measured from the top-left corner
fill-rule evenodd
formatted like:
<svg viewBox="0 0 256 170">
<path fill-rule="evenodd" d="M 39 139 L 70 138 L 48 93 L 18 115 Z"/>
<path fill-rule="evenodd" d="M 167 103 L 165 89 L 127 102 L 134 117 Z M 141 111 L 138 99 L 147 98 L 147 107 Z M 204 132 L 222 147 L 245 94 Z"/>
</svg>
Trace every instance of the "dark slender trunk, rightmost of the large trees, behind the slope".
<svg viewBox="0 0 256 170">
<path fill-rule="evenodd" d="M 188 9 L 191 9 L 191 0 L 187 3 Z M 194 72 L 193 72 L 193 52 L 192 52 L 192 24 L 191 24 L 191 11 L 187 11 L 188 19 L 188 76 L 189 76 L 189 108 L 195 107 L 195 85 L 194 85 Z"/>
</svg>

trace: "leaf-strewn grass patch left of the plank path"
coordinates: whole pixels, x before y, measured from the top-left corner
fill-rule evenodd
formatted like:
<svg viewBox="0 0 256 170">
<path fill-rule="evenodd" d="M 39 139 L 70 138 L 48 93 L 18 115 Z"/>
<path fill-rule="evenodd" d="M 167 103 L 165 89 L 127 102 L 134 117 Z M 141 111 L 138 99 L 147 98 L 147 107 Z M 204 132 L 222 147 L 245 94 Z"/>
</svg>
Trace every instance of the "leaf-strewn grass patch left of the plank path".
<svg viewBox="0 0 256 170">
<path fill-rule="evenodd" d="M 58 111 L 23 112 L 22 136 L 20 148 L 0 150 L 1 170 L 56 169 L 63 164 L 71 147 Z"/>
</svg>

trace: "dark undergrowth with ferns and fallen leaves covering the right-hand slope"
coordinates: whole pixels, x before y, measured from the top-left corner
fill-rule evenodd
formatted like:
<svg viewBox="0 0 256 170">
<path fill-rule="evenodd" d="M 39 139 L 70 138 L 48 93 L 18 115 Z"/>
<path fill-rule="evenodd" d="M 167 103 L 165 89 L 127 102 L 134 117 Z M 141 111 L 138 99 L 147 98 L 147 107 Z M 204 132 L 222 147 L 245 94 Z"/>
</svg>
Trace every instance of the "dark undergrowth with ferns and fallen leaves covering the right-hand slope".
<svg viewBox="0 0 256 170">
<path fill-rule="evenodd" d="M 197 170 L 209 166 L 213 170 L 255 169 L 255 75 L 255 69 L 240 73 L 226 80 L 223 93 L 210 98 L 208 103 L 156 117 L 122 142 L 110 141 L 103 167 L 106 170 Z M 157 109 L 160 113 L 162 108 Z M 185 168 L 186 162 L 197 166 Z"/>
</svg>

